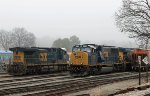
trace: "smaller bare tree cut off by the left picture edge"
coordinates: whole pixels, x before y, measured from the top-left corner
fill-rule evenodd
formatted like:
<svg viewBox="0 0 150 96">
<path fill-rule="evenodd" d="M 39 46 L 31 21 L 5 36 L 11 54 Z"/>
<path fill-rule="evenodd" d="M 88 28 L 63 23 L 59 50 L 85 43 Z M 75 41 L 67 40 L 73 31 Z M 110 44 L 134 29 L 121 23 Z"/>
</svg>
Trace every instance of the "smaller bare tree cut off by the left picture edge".
<svg viewBox="0 0 150 96">
<path fill-rule="evenodd" d="M 12 46 L 12 34 L 6 30 L 0 30 L 0 45 L 4 50 Z"/>
</svg>

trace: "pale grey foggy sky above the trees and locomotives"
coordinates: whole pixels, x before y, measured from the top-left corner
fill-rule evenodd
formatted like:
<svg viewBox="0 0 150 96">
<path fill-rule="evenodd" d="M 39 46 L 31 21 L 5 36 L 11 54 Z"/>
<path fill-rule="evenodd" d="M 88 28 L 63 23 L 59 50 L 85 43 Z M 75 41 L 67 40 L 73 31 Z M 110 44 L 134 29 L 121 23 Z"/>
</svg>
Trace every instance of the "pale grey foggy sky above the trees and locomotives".
<svg viewBox="0 0 150 96">
<path fill-rule="evenodd" d="M 0 29 L 24 27 L 46 44 L 71 35 L 83 42 L 133 42 L 115 25 L 121 1 L 0 0 Z"/>
</svg>

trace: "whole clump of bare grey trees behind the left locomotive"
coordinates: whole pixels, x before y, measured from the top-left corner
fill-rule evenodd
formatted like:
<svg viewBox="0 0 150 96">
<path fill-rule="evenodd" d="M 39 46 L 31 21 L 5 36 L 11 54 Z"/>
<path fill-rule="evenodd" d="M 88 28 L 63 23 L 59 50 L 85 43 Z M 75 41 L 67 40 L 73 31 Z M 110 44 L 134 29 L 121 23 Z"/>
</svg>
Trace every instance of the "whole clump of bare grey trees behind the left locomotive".
<svg viewBox="0 0 150 96">
<path fill-rule="evenodd" d="M 14 28 L 11 31 L 1 29 L 0 46 L 4 50 L 11 47 L 33 47 L 36 46 L 36 37 L 25 28 Z"/>
</svg>

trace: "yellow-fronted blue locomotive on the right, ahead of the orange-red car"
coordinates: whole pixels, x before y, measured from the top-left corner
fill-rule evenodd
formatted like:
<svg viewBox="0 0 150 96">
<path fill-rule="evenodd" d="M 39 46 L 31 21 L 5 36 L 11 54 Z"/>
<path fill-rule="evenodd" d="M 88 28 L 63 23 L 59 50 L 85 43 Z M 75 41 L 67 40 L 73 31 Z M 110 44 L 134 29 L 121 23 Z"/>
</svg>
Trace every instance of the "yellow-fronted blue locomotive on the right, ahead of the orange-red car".
<svg viewBox="0 0 150 96">
<path fill-rule="evenodd" d="M 75 45 L 70 56 L 70 74 L 85 76 L 99 74 L 105 68 L 123 71 L 127 67 L 128 51 L 115 46 L 96 44 Z"/>
</svg>

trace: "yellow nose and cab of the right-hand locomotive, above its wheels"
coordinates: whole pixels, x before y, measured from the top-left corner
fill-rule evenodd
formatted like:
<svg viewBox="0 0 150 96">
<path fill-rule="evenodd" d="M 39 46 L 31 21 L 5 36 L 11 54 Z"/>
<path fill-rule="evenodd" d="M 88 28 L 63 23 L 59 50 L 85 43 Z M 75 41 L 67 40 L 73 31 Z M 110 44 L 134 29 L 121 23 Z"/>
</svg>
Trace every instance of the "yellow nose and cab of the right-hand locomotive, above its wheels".
<svg viewBox="0 0 150 96">
<path fill-rule="evenodd" d="M 101 47 L 93 45 L 76 45 L 72 48 L 71 60 L 72 65 L 92 65 L 104 61 Z"/>
</svg>

